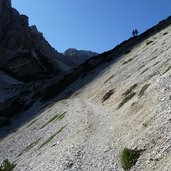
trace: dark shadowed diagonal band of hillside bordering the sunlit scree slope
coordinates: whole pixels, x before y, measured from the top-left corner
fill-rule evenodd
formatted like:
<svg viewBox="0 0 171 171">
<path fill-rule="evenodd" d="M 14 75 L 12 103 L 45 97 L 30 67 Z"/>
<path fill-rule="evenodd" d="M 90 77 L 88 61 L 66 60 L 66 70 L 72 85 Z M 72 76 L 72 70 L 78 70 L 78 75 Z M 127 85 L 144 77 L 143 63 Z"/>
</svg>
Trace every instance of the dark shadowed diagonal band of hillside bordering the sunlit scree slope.
<svg viewBox="0 0 171 171">
<path fill-rule="evenodd" d="M 104 72 L 104 70 L 111 64 L 119 61 L 121 59 L 121 56 L 125 55 L 128 50 L 131 51 L 134 46 L 161 31 L 162 29 L 166 28 L 170 24 L 171 17 L 161 21 L 158 25 L 152 27 L 143 34 L 124 41 L 120 45 L 116 46 L 114 49 L 90 58 L 78 68 L 75 68 L 71 73 L 65 75 L 64 77 L 61 77 L 60 79 L 56 79 L 54 77 L 54 79 L 39 82 L 39 86 L 31 89 L 31 93 L 27 95 L 19 94 L 10 99 L 4 105 L 4 108 L 0 107 L 0 118 L 3 118 L 5 116 L 7 118 L 6 122 L 8 123 L 8 119 L 13 118 L 13 116 L 17 116 L 19 114 L 22 114 L 23 112 L 25 114 L 27 113 L 26 116 L 25 114 L 23 116 L 20 116 L 22 118 L 19 119 L 20 121 L 14 120 L 13 124 L 10 126 L 10 131 L 18 129 L 19 127 L 21 127 L 25 123 L 28 123 L 31 119 L 39 115 L 42 111 L 46 110 L 50 105 L 53 105 L 55 101 L 51 101 L 50 103 L 48 103 L 48 101 L 56 97 L 58 94 L 62 93 L 67 86 L 70 85 L 70 87 L 72 87 L 72 83 L 76 81 L 79 82 L 76 88 L 70 90 L 66 95 L 63 94 L 59 98 L 56 98 L 57 100 L 67 98 L 70 95 L 74 94 L 75 91 L 79 90 L 81 87 L 85 86 L 93 79 L 100 76 Z M 90 76 L 91 72 L 93 72 L 93 75 Z M 30 101 L 27 101 L 27 99 L 30 99 Z M 31 108 L 34 108 L 33 104 L 35 104 L 37 101 L 40 101 L 42 105 L 40 105 L 37 110 L 27 112 L 28 109 L 31 110 Z M 0 135 L 0 138 L 3 138 L 9 133 L 8 131 L 4 131 L 7 129 L 9 129 L 9 127 L 2 128 L 2 134 Z"/>
</svg>

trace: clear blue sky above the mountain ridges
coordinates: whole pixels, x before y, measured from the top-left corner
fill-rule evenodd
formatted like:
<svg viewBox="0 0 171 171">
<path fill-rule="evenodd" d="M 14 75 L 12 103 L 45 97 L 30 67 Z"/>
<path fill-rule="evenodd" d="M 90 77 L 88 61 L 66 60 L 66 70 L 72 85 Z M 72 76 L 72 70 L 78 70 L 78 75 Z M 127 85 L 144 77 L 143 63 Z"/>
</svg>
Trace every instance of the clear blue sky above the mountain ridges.
<svg viewBox="0 0 171 171">
<path fill-rule="evenodd" d="M 171 15 L 170 0 L 12 0 L 59 52 L 104 52 Z"/>
</svg>

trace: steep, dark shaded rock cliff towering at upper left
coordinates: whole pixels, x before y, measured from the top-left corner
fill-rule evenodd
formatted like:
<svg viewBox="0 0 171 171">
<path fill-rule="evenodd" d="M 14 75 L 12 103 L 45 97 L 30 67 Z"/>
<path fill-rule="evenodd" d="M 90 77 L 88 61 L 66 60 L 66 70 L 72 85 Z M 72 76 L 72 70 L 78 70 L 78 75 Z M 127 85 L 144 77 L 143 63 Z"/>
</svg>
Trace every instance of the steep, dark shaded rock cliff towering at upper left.
<svg viewBox="0 0 171 171">
<path fill-rule="evenodd" d="M 0 70 L 21 81 L 61 76 L 71 70 L 28 17 L 0 1 Z"/>
</svg>

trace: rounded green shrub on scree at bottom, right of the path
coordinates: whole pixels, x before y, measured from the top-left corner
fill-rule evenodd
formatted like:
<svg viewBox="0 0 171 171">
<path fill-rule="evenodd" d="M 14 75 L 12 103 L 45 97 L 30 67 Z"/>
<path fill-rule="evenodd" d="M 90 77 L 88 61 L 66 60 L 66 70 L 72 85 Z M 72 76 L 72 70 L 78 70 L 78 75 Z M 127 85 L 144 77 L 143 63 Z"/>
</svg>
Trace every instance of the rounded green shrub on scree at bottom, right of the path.
<svg viewBox="0 0 171 171">
<path fill-rule="evenodd" d="M 125 171 L 128 171 L 133 167 L 138 158 L 140 157 L 140 151 L 124 148 L 120 155 L 120 163 Z"/>
</svg>

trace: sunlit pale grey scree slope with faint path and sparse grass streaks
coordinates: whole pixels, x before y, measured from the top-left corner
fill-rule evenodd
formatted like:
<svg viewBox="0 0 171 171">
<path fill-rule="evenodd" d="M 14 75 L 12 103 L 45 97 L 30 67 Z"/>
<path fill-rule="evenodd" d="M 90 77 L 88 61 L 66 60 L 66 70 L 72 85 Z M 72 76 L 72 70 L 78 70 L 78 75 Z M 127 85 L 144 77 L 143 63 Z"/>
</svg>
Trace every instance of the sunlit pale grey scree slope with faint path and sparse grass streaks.
<svg viewBox="0 0 171 171">
<path fill-rule="evenodd" d="M 13 127 L 41 112 L 1 140 L 0 161 L 15 162 L 16 171 L 122 171 L 119 156 L 128 147 L 143 151 L 132 170 L 170 171 L 170 41 L 168 27 L 46 107 L 37 102 Z"/>
</svg>

